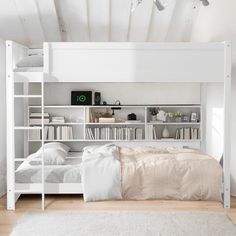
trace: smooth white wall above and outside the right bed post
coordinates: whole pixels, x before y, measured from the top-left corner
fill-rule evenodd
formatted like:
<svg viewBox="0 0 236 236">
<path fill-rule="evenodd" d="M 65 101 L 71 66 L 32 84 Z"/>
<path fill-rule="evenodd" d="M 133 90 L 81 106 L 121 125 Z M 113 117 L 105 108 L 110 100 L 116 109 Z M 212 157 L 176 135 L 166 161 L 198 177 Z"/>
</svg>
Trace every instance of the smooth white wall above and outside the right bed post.
<svg viewBox="0 0 236 236">
<path fill-rule="evenodd" d="M 236 195 L 236 1 L 214 0 L 201 6 L 192 31 L 192 41 L 232 41 L 232 153 L 231 193 Z M 222 97 L 222 93 L 218 94 Z"/>
</svg>

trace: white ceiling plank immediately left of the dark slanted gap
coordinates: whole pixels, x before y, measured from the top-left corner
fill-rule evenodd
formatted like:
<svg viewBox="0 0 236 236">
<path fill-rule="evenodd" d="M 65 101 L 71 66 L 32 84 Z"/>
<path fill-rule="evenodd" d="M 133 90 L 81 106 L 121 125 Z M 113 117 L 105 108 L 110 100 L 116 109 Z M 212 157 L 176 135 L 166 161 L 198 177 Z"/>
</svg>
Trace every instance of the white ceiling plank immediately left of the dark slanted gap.
<svg viewBox="0 0 236 236">
<path fill-rule="evenodd" d="M 45 41 L 57 42 L 61 41 L 61 31 L 57 11 L 55 8 L 54 0 L 35 0 L 41 25 L 45 35 Z"/>
</svg>

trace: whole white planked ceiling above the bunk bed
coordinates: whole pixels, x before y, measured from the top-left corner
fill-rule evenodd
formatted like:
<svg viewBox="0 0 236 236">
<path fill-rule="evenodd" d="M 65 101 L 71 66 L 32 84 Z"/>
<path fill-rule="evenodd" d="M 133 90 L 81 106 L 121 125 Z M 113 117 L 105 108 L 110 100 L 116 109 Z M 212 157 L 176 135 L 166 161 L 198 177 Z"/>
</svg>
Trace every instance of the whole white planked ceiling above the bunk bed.
<svg viewBox="0 0 236 236">
<path fill-rule="evenodd" d="M 0 0 L 0 37 L 41 47 L 52 41 L 188 41 L 199 0 Z"/>
</svg>

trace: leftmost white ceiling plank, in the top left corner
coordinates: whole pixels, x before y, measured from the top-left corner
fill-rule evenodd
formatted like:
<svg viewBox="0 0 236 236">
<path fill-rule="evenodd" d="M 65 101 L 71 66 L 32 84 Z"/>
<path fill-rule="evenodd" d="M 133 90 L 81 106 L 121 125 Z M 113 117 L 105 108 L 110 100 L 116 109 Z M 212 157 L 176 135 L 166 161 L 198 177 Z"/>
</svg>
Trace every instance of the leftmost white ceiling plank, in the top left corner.
<svg viewBox="0 0 236 236">
<path fill-rule="evenodd" d="M 12 0 L 2 0 L 1 4 L 0 37 L 5 40 L 14 40 L 28 46 L 29 40 L 25 34 L 21 19 L 18 16 L 15 3 Z"/>
</svg>

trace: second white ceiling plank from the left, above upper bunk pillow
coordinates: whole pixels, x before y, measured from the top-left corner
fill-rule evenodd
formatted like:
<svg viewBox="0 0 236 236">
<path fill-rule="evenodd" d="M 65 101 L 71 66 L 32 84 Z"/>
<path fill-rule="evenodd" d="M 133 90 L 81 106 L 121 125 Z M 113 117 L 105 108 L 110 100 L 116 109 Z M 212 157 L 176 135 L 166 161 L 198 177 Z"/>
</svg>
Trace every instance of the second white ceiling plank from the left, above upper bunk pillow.
<svg viewBox="0 0 236 236">
<path fill-rule="evenodd" d="M 14 0 L 18 14 L 22 19 L 22 24 L 29 38 L 31 47 L 42 47 L 45 41 L 37 4 L 32 0 Z"/>
</svg>

